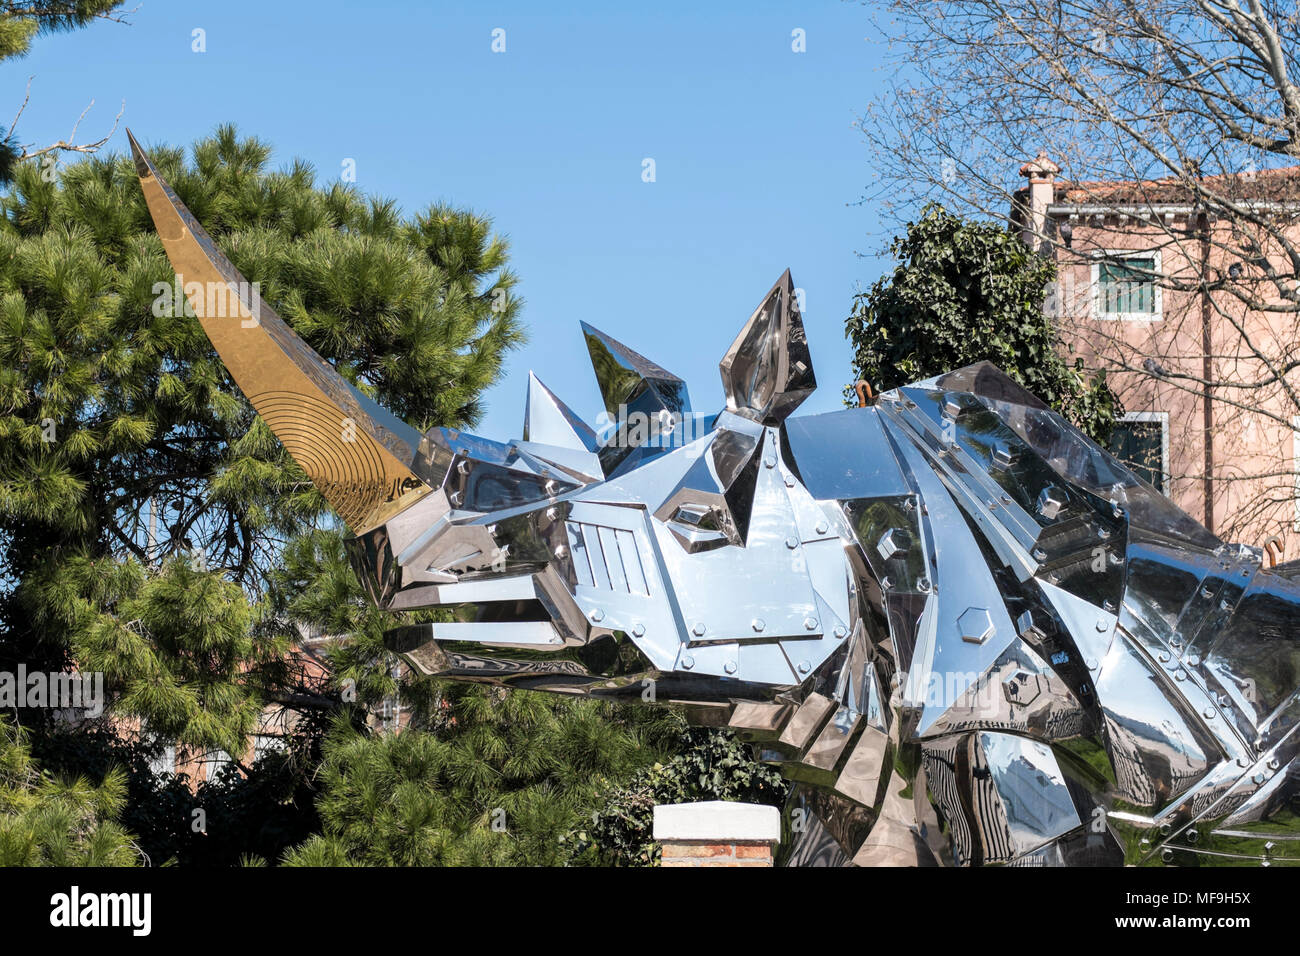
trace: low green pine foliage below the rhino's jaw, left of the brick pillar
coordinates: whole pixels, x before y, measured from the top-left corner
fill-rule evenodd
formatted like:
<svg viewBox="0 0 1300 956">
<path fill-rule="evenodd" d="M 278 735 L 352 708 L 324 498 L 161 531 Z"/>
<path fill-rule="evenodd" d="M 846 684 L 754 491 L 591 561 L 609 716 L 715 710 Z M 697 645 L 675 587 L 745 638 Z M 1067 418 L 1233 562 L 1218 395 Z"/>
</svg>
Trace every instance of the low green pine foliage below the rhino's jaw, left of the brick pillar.
<svg viewBox="0 0 1300 956">
<path fill-rule="evenodd" d="M 296 866 L 554 866 L 603 793 L 670 758 L 667 710 L 472 685 L 441 688 L 428 731 L 367 735 L 341 724 L 325 747 L 324 832 Z"/>
</svg>

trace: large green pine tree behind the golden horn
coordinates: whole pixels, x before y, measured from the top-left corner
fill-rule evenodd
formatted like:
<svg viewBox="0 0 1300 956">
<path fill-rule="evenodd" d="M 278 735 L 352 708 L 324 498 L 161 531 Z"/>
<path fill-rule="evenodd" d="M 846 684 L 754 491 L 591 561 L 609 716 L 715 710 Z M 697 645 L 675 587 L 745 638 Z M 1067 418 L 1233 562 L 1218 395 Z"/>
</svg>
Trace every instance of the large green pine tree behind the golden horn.
<svg viewBox="0 0 1300 956">
<path fill-rule="evenodd" d="M 264 299 L 413 425 L 472 425 L 523 341 L 507 245 L 482 216 L 395 203 L 225 126 L 156 148 Z M 100 670 L 116 713 L 242 750 L 285 696 L 285 546 L 333 527 L 185 302 L 126 157 L 0 202 L 0 665 Z"/>
</svg>

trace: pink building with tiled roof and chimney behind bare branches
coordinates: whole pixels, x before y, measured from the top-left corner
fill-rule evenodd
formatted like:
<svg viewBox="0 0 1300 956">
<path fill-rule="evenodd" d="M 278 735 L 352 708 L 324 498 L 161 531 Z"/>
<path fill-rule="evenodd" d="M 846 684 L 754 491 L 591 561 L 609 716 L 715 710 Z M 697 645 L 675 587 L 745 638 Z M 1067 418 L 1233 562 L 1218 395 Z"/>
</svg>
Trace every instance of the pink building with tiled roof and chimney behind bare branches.
<svg viewBox="0 0 1300 956">
<path fill-rule="evenodd" d="M 1212 203 L 1063 181 L 1045 153 L 1020 174 L 1011 221 L 1057 261 L 1063 347 L 1124 406 L 1112 450 L 1221 537 L 1300 557 L 1300 166 L 1205 177 Z"/>
</svg>

